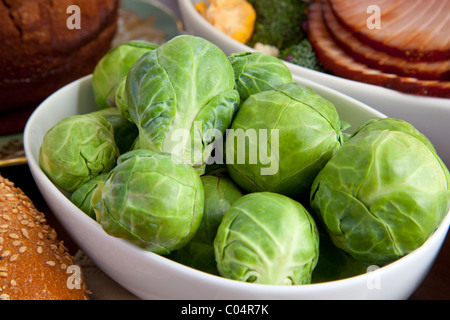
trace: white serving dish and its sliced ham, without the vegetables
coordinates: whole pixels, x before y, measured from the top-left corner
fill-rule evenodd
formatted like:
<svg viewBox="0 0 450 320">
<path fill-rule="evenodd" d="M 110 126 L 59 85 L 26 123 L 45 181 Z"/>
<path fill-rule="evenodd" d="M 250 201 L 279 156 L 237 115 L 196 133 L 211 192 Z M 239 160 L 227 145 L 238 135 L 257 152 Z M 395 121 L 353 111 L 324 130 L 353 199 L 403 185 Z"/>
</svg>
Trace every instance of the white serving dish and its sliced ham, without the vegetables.
<svg viewBox="0 0 450 320">
<path fill-rule="evenodd" d="M 255 51 L 179 0 L 186 31 L 227 54 Z M 372 6 L 369 8 L 369 6 Z M 368 22 L 379 8 L 379 28 Z M 289 62 L 293 74 L 331 87 L 421 130 L 450 166 L 450 0 L 314 0 L 308 38 L 332 74 Z M 414 77 L 415 76 L 415 77 Z"/>
</svg>

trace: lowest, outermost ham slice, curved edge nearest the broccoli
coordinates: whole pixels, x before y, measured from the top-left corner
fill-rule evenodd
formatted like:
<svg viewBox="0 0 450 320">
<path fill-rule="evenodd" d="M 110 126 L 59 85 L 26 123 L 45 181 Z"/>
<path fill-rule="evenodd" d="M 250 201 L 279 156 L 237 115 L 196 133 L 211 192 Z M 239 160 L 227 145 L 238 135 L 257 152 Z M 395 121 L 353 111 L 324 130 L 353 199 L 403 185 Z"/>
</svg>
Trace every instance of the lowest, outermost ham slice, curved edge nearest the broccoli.
<svg viewBox="0 0 450 320">
<path fill-rule="evenodd" d="M 336 76 L 405 93 L 450 98 L 450 81 L 419 80 L 383 72 L 348 55 L 326 27 L 321 0 L 315 0 L 309 8 L 308 38 L 318 59 Z"/>
</svg>

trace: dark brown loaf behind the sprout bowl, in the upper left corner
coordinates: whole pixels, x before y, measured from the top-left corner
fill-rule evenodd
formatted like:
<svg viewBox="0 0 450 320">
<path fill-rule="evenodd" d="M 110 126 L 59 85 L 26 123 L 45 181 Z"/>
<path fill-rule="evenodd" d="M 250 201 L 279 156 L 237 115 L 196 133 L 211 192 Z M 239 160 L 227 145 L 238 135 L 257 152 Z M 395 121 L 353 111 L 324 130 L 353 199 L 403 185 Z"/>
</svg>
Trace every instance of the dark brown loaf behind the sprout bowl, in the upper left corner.
<svg viewBox="0 0 450 320">
<path fill-rule="evenodd" d="M 60 87 L 91 73 L 110 49 L 118 3 L 0 1 L 0 113 L 8 112 L 11 118 L 18 109 L 35 108 Z M 70 10 L 72 5 L 79 11 Z M 80 29 L 73 28 L 72 21 L 79 22 Z"/>
</svg>

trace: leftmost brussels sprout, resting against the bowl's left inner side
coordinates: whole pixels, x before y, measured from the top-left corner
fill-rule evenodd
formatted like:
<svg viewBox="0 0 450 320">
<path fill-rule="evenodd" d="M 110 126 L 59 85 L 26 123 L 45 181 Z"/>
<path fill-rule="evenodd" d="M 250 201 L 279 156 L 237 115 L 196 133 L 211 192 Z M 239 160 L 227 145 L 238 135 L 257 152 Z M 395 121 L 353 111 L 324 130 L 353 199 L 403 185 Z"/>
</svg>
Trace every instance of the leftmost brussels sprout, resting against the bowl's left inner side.
<svg viewBox="0 0 450 320">
<path fill-rule="evenodd" d="M 96 114 L 63 119 L 44 136 L 39 165 L 53 183 L 67 192 L 109 172 L 119 149 L 112 125 Z"/>
</svg>

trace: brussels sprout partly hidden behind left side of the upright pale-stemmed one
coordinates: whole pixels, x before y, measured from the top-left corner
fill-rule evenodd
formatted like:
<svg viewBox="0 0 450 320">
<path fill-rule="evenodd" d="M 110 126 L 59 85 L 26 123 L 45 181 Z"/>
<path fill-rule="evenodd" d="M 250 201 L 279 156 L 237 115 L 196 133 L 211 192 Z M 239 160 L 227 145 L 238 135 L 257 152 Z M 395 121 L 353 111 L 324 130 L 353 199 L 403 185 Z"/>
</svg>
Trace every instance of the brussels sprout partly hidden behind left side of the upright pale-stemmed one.
<svg viewBox="0 0 450 320">
<path fill-rule="evenodd" d="M 133 40 L 109 50 L 92 73 L 94 98 L 100 109 L 116 107 L 116 90 L 125 80 L 131 66 L 147 51 L 159 45 Z"/>
</svg>

